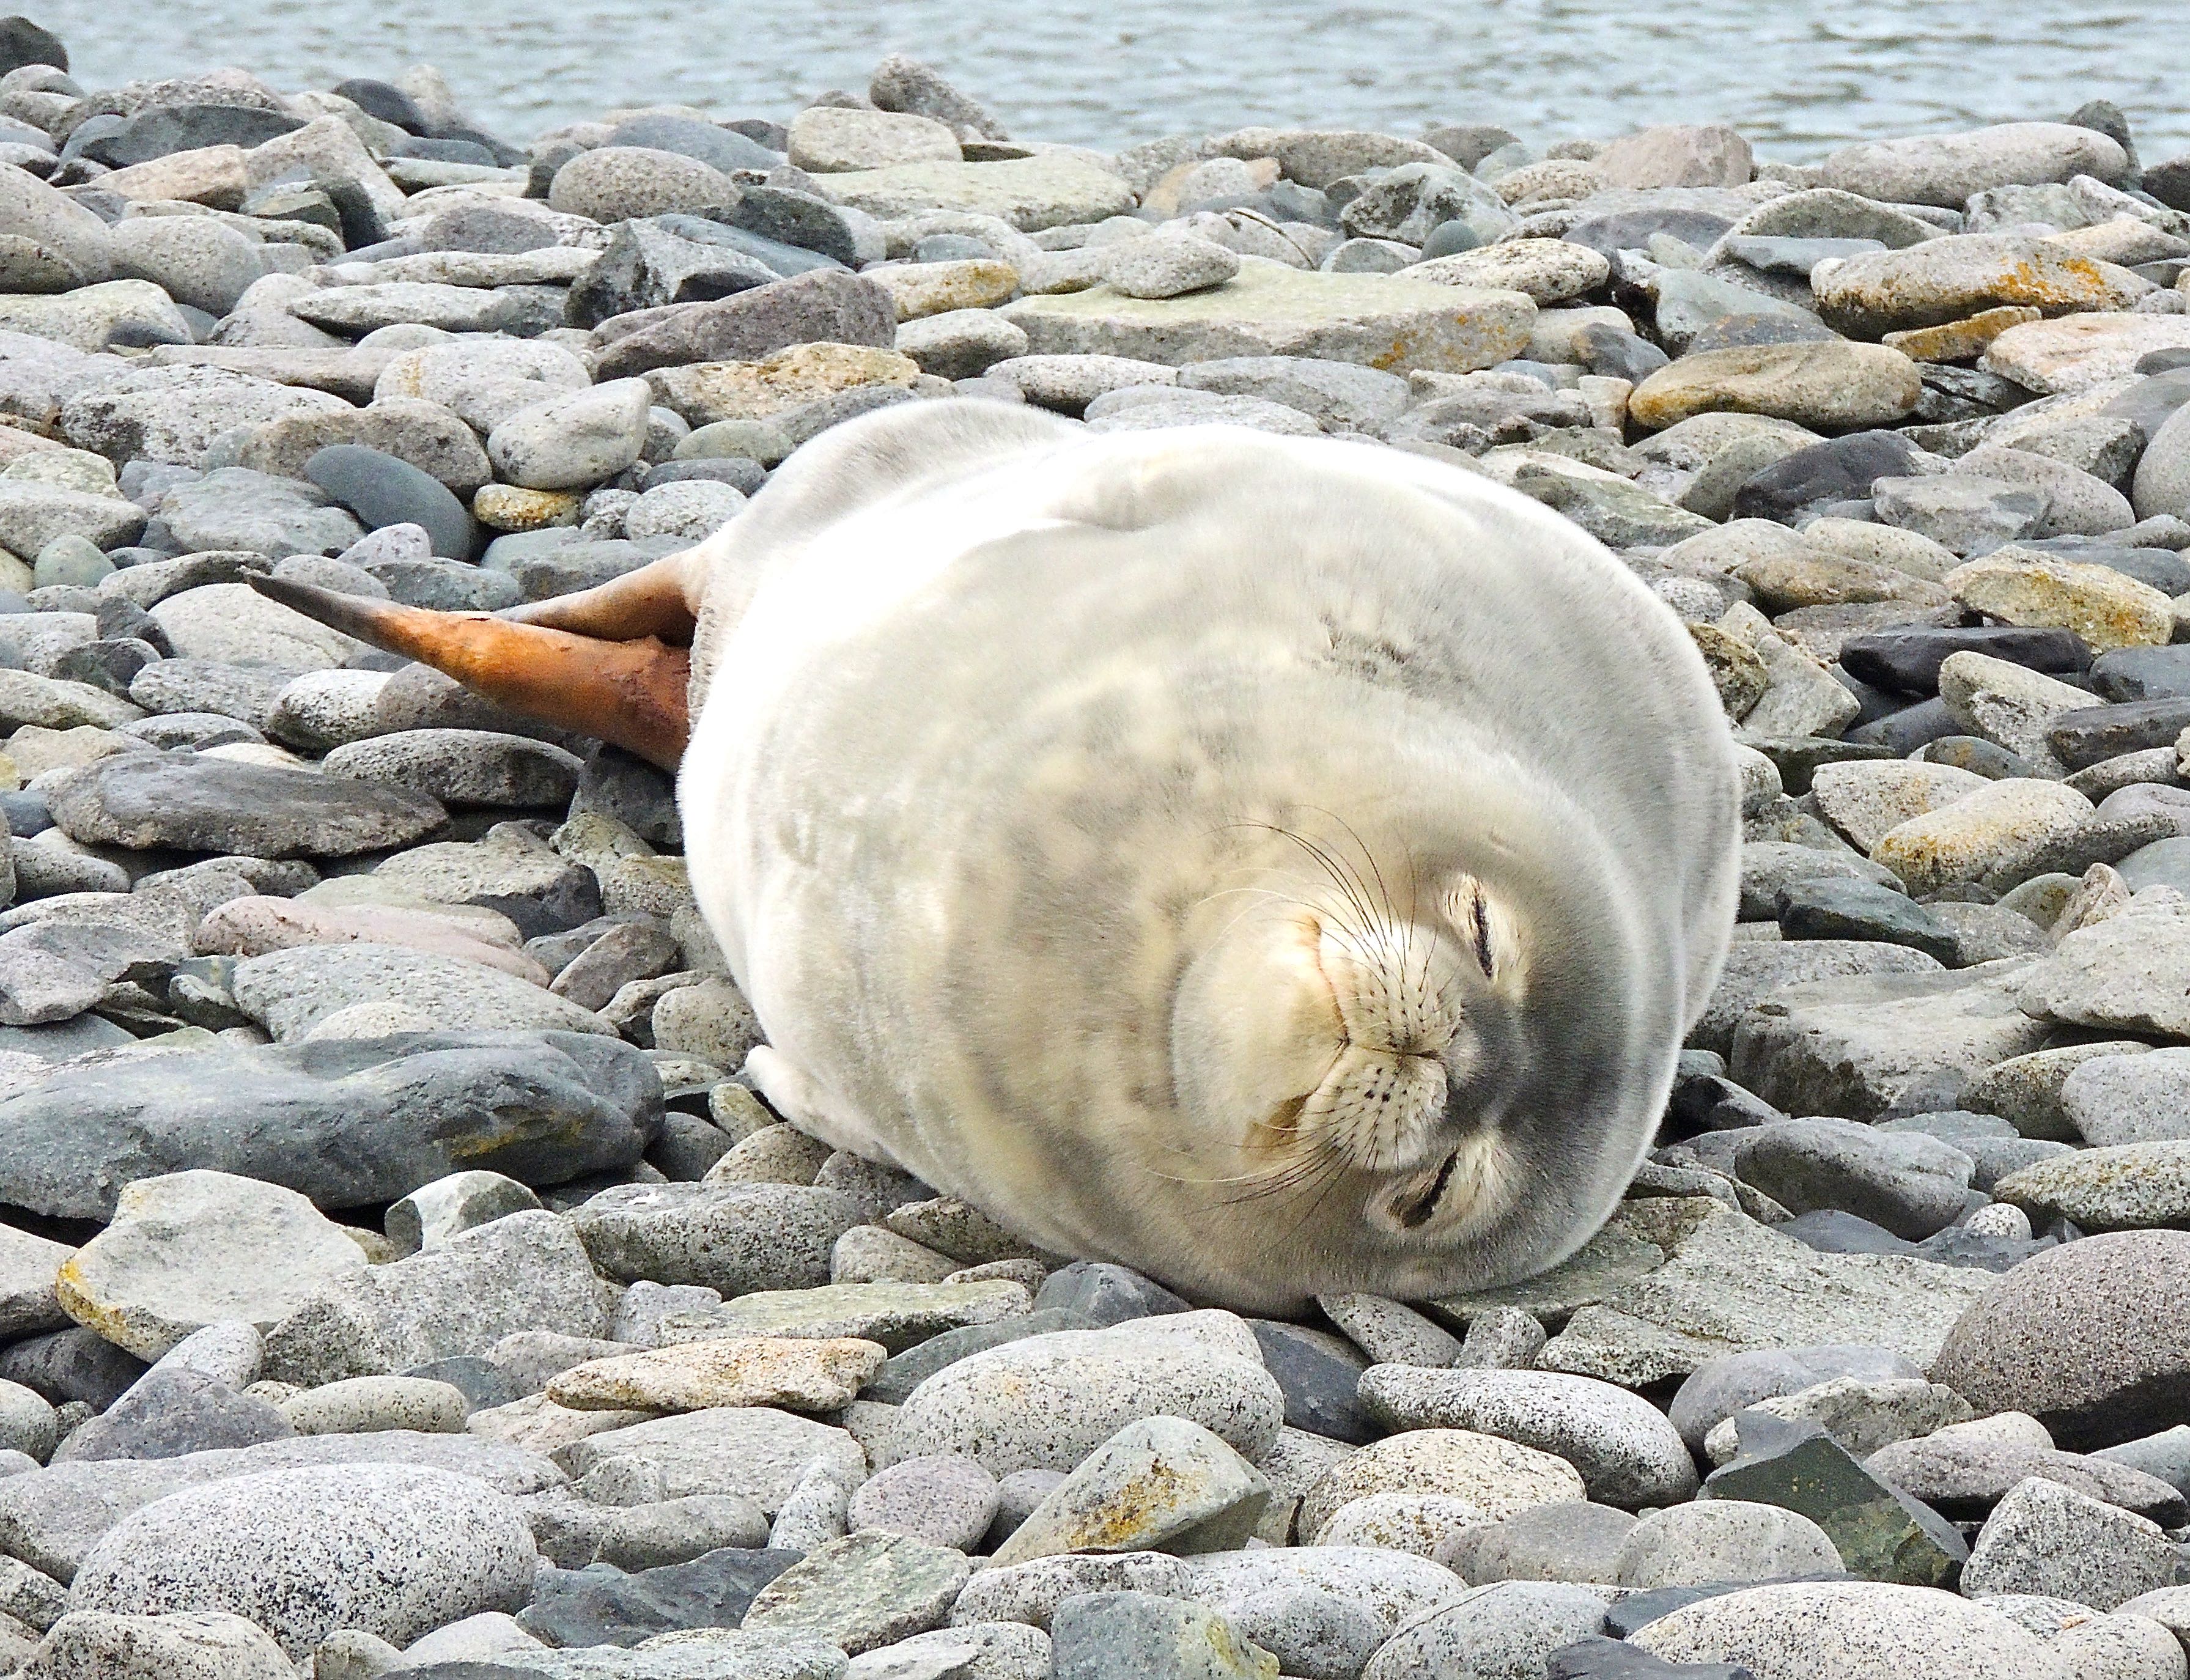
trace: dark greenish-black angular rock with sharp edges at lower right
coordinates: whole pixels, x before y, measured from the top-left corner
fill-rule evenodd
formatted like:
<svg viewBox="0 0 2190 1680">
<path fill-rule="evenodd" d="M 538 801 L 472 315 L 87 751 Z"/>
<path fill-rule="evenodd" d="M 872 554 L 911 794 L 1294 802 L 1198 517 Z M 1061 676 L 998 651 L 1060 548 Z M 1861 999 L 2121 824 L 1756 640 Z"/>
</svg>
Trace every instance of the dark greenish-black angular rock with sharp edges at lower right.
<svg viewBox="0 0 2190 1680">
<path fill-rule="evenodd" d="M 1704 1478 L 1710 1498 L 1800 1511 L 1833 1538 L 1859 1579 L 1953 1588 L 1969 1544 L 1929 1505 L 1872 1476 L 1816 1424 L 1743 1411 L 1734 1428 L 1741 1457 Z"/>
</svg>

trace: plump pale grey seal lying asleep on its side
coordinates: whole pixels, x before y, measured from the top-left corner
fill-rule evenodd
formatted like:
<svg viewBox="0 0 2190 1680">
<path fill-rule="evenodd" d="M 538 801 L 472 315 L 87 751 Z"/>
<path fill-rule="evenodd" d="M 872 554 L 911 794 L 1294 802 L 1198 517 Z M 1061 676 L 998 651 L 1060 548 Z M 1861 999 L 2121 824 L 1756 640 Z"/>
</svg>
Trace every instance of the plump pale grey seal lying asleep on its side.
<svg viewBox="0 0 2190 1680">
<path fill-rule="evenodd" d="M 769 1104 L 1200 1301 L 1570 1255 L 1734 918 L 1680 620 L 1402 449 L 907 403 L 512 618 L 261 587 L 679 764 Z"/>
</svg>

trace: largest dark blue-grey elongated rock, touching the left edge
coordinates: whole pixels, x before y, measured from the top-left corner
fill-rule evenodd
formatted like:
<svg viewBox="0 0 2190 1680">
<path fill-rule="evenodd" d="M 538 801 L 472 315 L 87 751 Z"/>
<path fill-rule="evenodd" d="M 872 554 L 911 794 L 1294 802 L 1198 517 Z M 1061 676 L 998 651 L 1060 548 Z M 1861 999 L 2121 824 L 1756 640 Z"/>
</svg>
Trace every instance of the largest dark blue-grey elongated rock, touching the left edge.
<svg viewBox="0 0 2190 1680">
<path fill-rule="evenodd" d="M 530 1185 L 624 1170 L 659 1126 L 653 1062 L 598 1034 L 221 1045 L 57 1067 L 0 1102 L 0 1200 L 107 1220 L 123 1185 L 208 1167 L 370 1207 L 466 1167 Z"/>
</svg>

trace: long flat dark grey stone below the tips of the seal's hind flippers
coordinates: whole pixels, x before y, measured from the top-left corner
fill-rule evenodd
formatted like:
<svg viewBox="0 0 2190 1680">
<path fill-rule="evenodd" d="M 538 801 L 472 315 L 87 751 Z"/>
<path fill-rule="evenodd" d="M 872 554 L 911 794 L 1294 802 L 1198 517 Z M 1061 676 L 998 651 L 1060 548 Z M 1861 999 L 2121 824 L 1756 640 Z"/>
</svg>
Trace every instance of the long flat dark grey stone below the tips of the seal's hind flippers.
<svg viewBox="0 0 2190 1680">
<path fill-rule="evenodd" d="M 53 821 L 85 845 L 269 859 L 407 845 L 449 819 L 407 789 L 193 751 L 103 758 L 50 784 L 46 804 Z"/>
</svg>

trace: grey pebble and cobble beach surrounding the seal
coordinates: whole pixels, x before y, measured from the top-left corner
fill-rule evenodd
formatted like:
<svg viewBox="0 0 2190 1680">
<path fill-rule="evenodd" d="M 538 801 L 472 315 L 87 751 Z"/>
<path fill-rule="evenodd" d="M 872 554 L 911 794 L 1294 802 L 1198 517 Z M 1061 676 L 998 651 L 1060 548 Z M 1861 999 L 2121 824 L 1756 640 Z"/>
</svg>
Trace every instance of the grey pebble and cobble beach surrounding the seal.
<svg viewBox="0 0 2190 1680">
<path fill-rule="evenodd" d="M 2190 156 L 946 70 L 502 134 L 0 20 L 0 1673 L 2190 1680 Z M 664 771 L 250 583 L 550 600 L 968 399 L 1686 624 L 1741 920 L 1572 1259 L 1246 1319 L 832 1152 Z"/>
</svg>

